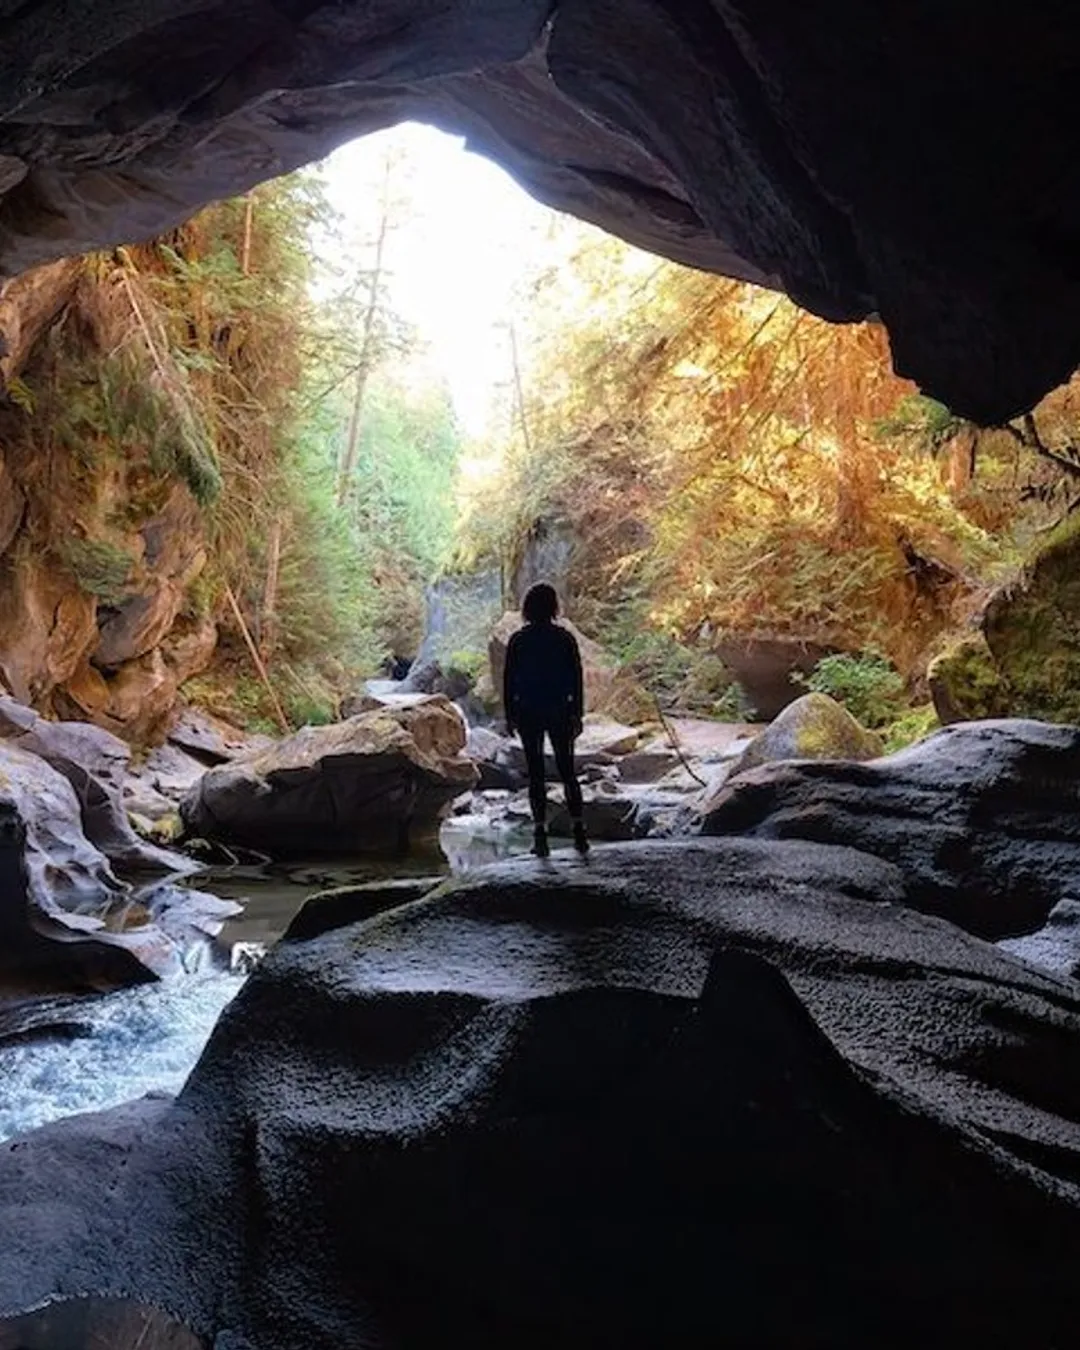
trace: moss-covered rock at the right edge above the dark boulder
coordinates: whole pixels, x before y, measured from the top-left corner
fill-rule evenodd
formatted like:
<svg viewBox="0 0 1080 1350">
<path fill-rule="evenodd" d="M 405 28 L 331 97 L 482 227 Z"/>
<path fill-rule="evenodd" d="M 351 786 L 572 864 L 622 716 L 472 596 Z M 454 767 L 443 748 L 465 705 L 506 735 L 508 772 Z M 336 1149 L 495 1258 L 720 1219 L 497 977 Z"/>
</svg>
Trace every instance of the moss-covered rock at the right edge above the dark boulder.
<svg viewBox="0 0 1080 1350">
<path fill-rule="evenodd" d="M 940 656 L 929 678 L 942 722 L 1080 722 L 1080 518 L 1065 521 L 1023 575 L 991 597 L 981 633 Z"/>
</svg>

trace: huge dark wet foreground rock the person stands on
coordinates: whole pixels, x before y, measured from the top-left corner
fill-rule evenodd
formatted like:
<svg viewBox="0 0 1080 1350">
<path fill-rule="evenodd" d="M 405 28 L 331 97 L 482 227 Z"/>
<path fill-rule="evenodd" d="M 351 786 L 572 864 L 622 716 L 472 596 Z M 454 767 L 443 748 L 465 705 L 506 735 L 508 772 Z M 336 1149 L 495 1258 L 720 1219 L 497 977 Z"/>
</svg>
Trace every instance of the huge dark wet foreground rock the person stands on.
<svg viewBox="0 0 1080 1350">
<path fill-rule="evenodd" d="M 0 1153 L 0 1315 L 123 1291 L 251 1350 L 1069 1345 L 1080 991 L 903 895 L 850 849 L 613 845 L 282 944 L 174 1103 Z"/>
</svg>

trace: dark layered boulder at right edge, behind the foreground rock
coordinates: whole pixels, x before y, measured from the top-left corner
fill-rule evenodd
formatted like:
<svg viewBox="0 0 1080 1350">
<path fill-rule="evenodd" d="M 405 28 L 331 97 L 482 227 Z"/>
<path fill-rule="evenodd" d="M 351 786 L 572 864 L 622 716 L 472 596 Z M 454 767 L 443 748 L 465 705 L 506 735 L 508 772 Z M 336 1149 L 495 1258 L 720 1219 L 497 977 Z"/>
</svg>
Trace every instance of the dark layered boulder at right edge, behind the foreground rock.
<svg viewBox="0 0 1080 1350">
<path fill-rule="evenodd" d="M 1080 729 L 964 722 L 871 764 L 767 764 L 703 803 L 706 834 L 850 844 L 895 863 L 909 903 L 983 937 L 1080 898 Z"/>
</svg>

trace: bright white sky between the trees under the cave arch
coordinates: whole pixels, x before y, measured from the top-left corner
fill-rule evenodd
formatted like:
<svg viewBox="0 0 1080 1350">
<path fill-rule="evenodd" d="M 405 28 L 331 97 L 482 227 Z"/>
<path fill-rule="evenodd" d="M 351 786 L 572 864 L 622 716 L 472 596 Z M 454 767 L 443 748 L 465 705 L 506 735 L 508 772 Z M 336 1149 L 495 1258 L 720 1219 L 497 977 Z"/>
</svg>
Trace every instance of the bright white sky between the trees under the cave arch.
<svg viewBox="0 0 1080 1350">
<path fill-rule="evenodd" d="M 387 147 L 401 155 L 393 184 L 402 198 L 386 244 L 390 304 L 416 325 L 463 428 L 479 436 L 494 387 L 512 374 L 513 288 L 543 255 L 552 213 L 460 139 L 406 123 L 325 162 L 331 201 L 360 240 L 375 231 Z"/>
</svg>

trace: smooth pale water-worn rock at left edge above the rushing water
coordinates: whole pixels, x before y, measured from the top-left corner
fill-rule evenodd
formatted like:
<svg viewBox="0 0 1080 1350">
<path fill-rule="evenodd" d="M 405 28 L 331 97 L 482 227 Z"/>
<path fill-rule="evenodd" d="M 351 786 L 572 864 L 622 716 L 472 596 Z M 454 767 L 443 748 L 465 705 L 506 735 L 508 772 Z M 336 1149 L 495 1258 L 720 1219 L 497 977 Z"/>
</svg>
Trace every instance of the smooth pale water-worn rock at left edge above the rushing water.
<svg viewBox="0 0 1080 1350">
<path fill-rule="evenodd" d="M 188 949 L 239 911 L 158 882 L 134 891 L 84 833 L 72 783 L 0 740 L 0 983 L 112 988 L 181 973 Z"/>
</svg>

